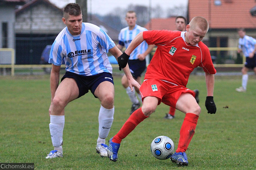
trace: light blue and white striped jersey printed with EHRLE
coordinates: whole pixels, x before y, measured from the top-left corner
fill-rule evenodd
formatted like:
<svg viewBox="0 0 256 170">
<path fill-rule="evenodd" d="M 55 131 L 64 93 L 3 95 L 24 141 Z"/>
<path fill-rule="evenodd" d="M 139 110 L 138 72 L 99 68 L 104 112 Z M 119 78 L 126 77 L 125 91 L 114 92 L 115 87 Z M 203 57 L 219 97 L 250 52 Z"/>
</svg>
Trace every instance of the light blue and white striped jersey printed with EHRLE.
<svg viewBox="0 0 256 170">
<path fill-rule="evenodd" d="M 100 27 L 82 23 L 80 35 L 71 35 L 65 27 L 51 46 L 49 63 L 61 65 L 64 57 L 66 71 L 79 75 L 112 73 L 108 50 L 115 43 Z"/>
</svg>

